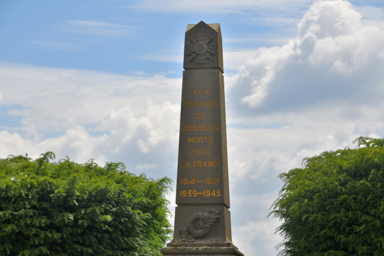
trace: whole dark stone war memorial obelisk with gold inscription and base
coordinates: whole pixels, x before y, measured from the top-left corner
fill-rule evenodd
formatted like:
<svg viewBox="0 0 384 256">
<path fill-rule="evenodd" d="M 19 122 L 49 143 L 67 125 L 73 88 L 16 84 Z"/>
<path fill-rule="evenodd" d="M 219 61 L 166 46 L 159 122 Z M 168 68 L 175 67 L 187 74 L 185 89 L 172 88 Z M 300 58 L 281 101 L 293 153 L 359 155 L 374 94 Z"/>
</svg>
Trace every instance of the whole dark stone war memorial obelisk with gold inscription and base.
<svg viewBox="0 0 384 256">
<path fill-rule="evenodd" d="M 185 32 L 174 238 L 163 255 L 244 256 L 232 244 L 219 24 Z"/>
</svg>

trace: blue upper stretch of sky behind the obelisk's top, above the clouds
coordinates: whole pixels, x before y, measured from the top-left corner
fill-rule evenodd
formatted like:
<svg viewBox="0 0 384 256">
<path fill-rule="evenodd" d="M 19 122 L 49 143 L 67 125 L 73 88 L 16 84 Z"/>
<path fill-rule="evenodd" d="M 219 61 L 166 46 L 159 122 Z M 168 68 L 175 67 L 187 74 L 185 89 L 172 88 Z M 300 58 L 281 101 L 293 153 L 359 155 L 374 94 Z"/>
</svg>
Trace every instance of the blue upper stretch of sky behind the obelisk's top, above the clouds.
<svg viewBox="0 0 384 256">
<path fill-rule="evenodd" d="M 181 60 L 169 60 L 182 55 L 185 26 L 200 20 L 221 24 L 228 38 L 223 47 L 228 51 L 275 45 L 273 39 L 283 44 L 282 38 L 294 36 L 296 21 L 311 4 L 298 2 L 289 8 L 293 12 L 287 13 L 273 5 L 250 5 L 250 10 L 247 5 L 233 5 L 215 10 L 215 5 L 204 7 L 203 2 L 197 2 L 201 8 L 190 11 L 173 9 L 172 1 L 160 5 L 163 9 L 155 8 L 157 4 L 151 1 L 37 3 L 1 2 L 0 46 L 8 49 L 0 53 L 3 61 L 119 74 L 180 70 Z"/>
</svg>

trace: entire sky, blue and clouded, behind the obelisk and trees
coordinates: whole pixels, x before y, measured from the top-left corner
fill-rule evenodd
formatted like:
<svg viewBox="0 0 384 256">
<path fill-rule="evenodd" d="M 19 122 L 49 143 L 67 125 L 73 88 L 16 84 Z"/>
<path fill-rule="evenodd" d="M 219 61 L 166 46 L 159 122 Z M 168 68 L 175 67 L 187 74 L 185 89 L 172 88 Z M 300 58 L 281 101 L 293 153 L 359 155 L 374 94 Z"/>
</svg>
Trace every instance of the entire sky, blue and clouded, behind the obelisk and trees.
<svg viewBox="0 0 384 256">
<path fill-rule="evenodd" d="M 176 180 L 184 32 L 200 20 L 223 36 L 233 243 L 276 255 L 276 177 L 384 137 L 382 1 L 0 0 L 0 157 Z"/>
</svg>

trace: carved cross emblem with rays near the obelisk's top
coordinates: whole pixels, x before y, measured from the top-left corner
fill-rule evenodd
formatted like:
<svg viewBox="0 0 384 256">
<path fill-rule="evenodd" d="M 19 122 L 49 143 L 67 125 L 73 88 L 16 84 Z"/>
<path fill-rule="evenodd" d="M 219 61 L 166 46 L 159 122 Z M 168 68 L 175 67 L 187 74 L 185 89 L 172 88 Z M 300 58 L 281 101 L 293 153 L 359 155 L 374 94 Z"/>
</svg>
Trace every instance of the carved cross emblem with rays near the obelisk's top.
<svg viewBox="0 0 384 256">
<path fill-rule="evenodd" d="M 210 54 L 215 53 L 215 44 L 210 44 L 209 42 L 213 39 L 213 37 L 208 39 L 207 34 L 196 34 L 196 40 L 190 37 L 190 41 L 192 45 L 187 46 L 187 55 L 191 54 L 191 57 L 188 59 L 188 62 L 196 59 L 196 64 L 206 64 L 207 59 L 210 61 L 214 61 L 214 59 L 210 56 Z"/>
</svg>

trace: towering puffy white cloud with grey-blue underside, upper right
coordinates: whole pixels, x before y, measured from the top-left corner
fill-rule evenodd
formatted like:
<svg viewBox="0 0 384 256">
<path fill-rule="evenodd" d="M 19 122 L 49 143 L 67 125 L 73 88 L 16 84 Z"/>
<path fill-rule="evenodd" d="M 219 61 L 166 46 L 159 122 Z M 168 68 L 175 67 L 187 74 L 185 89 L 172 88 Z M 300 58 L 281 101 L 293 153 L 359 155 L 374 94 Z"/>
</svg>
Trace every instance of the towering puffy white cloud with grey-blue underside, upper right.
<svg viewBox="0 0 384 256">
<path fill-rule="evenodd" d="M 295 39 L 260 48 L 233 77 L 241 103 L 272 111 L 383 93 L 384 31 L 364 25 L 349 2 L 318 1 L 297 27 Z"/>
</svg>

